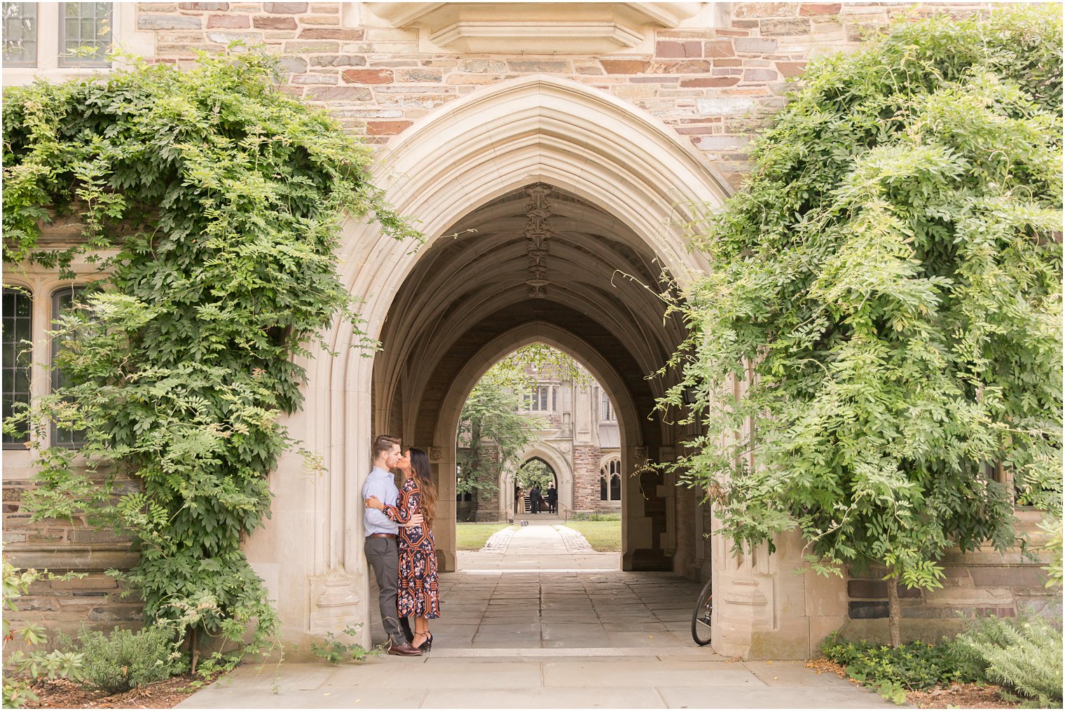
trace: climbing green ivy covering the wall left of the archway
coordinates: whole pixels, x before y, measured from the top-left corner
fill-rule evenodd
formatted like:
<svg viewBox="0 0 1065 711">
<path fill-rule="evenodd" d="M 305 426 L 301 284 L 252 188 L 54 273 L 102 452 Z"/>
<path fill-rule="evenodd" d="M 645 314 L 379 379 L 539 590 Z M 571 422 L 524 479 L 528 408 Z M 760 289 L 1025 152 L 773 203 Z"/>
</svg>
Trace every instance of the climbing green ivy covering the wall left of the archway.
<svg viewBox="0 0 1065 711">
<path fill-rule="evenodd" d="M 70 274 L 80 254 L 100 270 L 53 336 L 66 384 L 33 412 L 34 445 L 51 423 L 80 431 L 87 465 L 43 450 L 28 506 L 131 533 L 140 562 L 115 574 L 146 619 L 263 650 L 278 616 L 241 544 L 295 444 L 279 418 L 302 401 L 298 359 L 337 318 L 371 345 L 337 275 L 340 221 L 416 233 L 371 184 L 367 148 L 279 89 L 273 57 L 127 60 L 4 93 L 7 269 Z M 69 248 L 40 242 L 58 216 L 83 227 Z"/>
</svg>

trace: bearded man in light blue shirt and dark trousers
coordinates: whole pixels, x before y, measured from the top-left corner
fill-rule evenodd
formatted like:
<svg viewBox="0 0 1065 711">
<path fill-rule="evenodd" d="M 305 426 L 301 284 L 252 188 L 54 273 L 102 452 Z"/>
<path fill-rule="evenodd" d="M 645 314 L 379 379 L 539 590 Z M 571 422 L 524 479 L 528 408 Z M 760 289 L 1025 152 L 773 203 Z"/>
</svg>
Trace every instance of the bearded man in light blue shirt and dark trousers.
<svg viewBox="0 0 1065 711">
<path fill-rule="evenodd" d="M 376 496 L 383 503 L 396 506 L 399 490 L 396 489 L 392 469 L 400 458 L 399 440 L 387 434 L 374 439 L 374 468 L 362 485 L 362 499 Z M 396 613 L 396 593 L 399 589 L 399 549 L 396 534 L 399 526 L 377 509 L 364 509 L 363 528 L 366 532 L 366 561 L 377 578 L 378 605 L 381 610 L 381 625 L 389 635 L 389 654 L 399 657 L 417 657 L 421 649 L 411 646 L 399 627 Z M 421 517 L 421 514 L 415 518 Z M 421 523 L 411 519 L 411 524 Z"/>
</svg>

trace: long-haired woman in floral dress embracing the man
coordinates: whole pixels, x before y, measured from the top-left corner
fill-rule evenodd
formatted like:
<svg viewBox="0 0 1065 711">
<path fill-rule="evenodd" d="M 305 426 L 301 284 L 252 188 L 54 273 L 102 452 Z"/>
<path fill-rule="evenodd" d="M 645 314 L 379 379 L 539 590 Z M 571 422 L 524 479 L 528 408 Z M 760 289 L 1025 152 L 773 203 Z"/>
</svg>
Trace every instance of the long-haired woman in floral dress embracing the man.
<svg viewBox="0 0 1065 711">
<path fill-rule="evenodd" d="M 429 621 L 440 616 L 440 575 L 437 568 L 437 543 L 432 538 L 432 520 L 437 513 L 437 487 L 432 483 L 429 456 L 411 447 L 404 452 L 396 467 L 404 482 L 397 506 L 386 506 L 374 496 L 366 506 L 382 511 L 399 524 L 399 592 L 396 611 L 400 617 L 414 618 L 411 645 L 428 651 L 432 647 Z M 425 523 L 408 526 L 411 516 L 421 513 Z"/>
</svg>

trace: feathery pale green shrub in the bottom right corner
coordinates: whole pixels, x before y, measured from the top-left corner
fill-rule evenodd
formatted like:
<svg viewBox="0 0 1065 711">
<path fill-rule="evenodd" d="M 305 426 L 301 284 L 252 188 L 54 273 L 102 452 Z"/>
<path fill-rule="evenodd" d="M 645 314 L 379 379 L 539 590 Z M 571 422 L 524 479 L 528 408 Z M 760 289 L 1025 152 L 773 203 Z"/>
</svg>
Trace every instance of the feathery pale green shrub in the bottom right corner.
<svg viewBox="0 0 1065 711">
<path fill-rule="evenodd" d="M 1062 630 L 1045 618 L 978 617 L 955 644 L 987 681 L 1061 705 Z"/>
</svg>

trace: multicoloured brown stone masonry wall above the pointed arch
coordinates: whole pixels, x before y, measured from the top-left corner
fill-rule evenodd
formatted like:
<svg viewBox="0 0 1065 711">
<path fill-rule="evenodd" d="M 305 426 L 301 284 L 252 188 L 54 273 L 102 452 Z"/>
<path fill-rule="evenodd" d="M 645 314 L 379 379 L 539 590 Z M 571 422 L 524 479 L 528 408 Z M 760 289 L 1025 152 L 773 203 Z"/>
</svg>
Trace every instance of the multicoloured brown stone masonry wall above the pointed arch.
<svg viewBox="0 0 1065 711">
<path fill-rule="evenodd" d="M 529 73 L 570 79 L 641 109 L 706 153 L 738 186 L 743 147 L 785 104 L 787 80 L 816 54 L 852 50 L 906 12 L 966 14 L 979 4 L 732 3 L 727 27 L 656 30 L 653 52 L 596 56 L 423 53 L 417 30 L 347 27 L 335 2 L 138 3 L 155 61 L 264 43 L 283 56 L 284 90 L 327 109 L 354 134 L 387 143 L 437 106 Z"/>
</svg>

